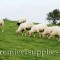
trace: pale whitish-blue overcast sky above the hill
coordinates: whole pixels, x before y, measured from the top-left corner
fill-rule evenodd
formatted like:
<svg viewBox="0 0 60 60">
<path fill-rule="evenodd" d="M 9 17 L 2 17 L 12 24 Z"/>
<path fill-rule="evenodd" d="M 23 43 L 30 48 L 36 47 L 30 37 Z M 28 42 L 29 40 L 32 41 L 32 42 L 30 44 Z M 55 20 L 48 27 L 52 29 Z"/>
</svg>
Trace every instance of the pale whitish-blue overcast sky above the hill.
<svg viewBox="0 0 60 60">
<path fill-rule="evenodd" d="M 0 0 L 0 19 L 8 18 L 47 24 L 47 14 L 60 9 L 60 0 Z"/>
</svg>

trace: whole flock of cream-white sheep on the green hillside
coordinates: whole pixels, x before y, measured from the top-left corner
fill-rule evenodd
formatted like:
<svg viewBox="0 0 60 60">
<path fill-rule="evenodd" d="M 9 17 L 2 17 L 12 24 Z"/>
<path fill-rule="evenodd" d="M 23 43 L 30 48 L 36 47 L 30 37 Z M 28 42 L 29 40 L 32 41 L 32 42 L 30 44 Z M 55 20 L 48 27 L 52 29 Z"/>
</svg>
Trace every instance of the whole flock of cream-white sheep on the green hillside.
<svg viewBox="0 0 60 60">
<path fill-rule="evenodd" d="M 2 25 L 2 32 L 4 31 L 4 20 L 0 20 L 0 25 Z M 25 18 L 20 19 L 17 25 L 19 26 L 16 30 L 16 34 L 25 32 L 25 36 L 31 36 L 33 33 L 38 33 L 39 37 L 47 37 L 50 39 L 51 37 L 55 37 L 60 41 L 60 27 L 59 26 L 47 26 L 46 24 L 33 24 L 32 22 L 26 22 Z M 35 34 L 34 34 L 35 37 Z"/>
</svg>

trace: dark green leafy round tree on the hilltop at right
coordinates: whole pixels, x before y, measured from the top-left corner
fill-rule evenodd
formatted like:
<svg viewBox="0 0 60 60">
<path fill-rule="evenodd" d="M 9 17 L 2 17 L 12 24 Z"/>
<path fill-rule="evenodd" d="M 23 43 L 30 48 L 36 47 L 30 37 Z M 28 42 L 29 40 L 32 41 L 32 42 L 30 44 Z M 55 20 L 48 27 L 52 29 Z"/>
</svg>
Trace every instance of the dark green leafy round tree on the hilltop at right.
<svg viewBox="0 0 60 60">
<path fill-rule="evenodd" d="M 57 20 L 60 20 L 60 11 L 59 11 L 59 9 L 55 9 L 52 12 L 49 12 L 47 14 L 47 20 L 49 22 L 52 21 L 52 24 L 56 24 Z"/>
</svg>

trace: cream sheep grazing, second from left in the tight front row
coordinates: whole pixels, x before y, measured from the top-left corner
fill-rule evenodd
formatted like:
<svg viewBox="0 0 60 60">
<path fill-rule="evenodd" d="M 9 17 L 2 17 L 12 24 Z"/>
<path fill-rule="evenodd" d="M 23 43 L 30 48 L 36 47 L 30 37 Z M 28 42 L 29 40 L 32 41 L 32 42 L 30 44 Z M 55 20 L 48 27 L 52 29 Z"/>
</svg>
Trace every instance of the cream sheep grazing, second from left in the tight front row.
<svg viewBox="0 0 60 60">
<path fill-rule="evenodd" d="M 33 25 L 31 27 L 31 30 L 28 31 L 28 34 L 29 34 L 29 36 L 31 36 L 32 33 L 37 32 L 39 34 L 39 36 L 41 37 L 40 33 L 42 33 L 44 31 L 44 29 L 46 29 L 46 28 L 47 28 L 47 25 L 45 25 L 45 24 Z M 34 37 L 35 37 L 35 35 L 34 35 Z"/>
</svg>

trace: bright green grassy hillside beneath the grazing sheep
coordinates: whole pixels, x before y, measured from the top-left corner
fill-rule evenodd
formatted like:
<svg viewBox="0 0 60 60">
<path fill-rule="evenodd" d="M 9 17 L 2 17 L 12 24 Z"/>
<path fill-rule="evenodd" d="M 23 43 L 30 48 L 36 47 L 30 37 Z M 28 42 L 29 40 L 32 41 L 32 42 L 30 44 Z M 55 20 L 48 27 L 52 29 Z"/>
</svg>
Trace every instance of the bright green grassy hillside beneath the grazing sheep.
<svg viewBox="0 0 60 60">
<path fill-rule="evenodd" d="M 0 28 L 0 60 L 60 60 L 60 43 L 56 39 L 16 35 L 17 28 L 16 22 L 12 21 L 5 21 L 3 33 Z M 1 51 L 9 50 L 23 52 L 22 54 L 1 54 Z M 27 54 L 25 54 L 26 51 Z M 34 54 L 31 51 L 35 51 Z"/>
</svg>

